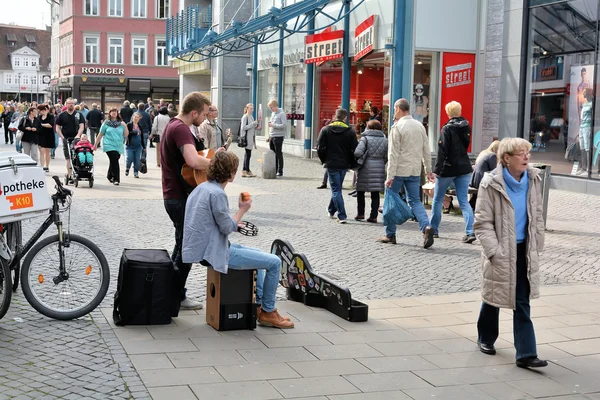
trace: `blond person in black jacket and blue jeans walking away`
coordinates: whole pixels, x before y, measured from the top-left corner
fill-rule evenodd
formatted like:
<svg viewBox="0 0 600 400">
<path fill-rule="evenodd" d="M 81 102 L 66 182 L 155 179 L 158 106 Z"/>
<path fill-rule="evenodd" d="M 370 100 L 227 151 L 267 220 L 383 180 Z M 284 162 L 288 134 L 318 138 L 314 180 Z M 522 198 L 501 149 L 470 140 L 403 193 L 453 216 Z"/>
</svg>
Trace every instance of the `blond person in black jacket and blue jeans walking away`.
<svg viewBox="0 0 600 400">
<path fill-rule="evenodd" d="M 465 220 L 463 243 L 473 243 L 473 208 L 469 204 L 469 182 L 473 167 L 467 153 L 471 143 L 471 125 L 461 116 L 462 106 L 457 101 L 446 104 L 446 114 L 450 119 L 442 127 L 438 141 L 438 155 L 433 173 L 435 189 L 431 206 L 431 226 L 434 237 L 439 234 L 442 220 L 442 205 L 450 184 L 454 184 L 456 198 Z"/>
</svg>

